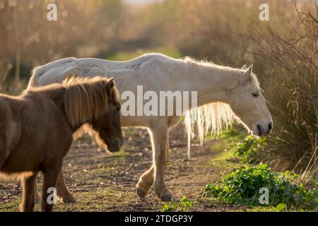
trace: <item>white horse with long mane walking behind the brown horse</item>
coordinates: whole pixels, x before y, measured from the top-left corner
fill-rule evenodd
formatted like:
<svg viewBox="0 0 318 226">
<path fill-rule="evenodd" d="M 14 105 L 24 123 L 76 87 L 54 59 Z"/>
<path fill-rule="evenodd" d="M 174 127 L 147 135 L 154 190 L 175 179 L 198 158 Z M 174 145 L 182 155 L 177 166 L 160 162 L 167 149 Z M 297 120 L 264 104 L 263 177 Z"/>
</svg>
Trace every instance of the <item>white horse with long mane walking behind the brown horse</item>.
<svg viewBox="0 0 318 226">
<path fill-rule="evenodd" d="M 218 132 L 224 124 L 237 119 L 255 136 L 264 136 L 273 126 L 252 65 L 247 69 L 195 61 L 191 58 L 172 59 L 163 54 L 145 54 L 130 61 L 66 58 L 52 61 L 33 70 L 29 87 L 61 83 L 66 76 L 112 76 L 118 90 L 131 90 L 136 94 L 137 85 L 143 90 L 158 93 L 162 90 L 197 91 L 196 109 L 189 109 L 186 116 L 198 128 L 201 141 L 208 131 Z M 123 101 L 122 101 L 123 102 Z M 190 105 L 191 106 L 191 105 Z M 172 192 L 167 189 L 164 170 L 169 157 L 169 129 L 177 124 L 179 116 L 122 116 L 122 126 L 148 128 L 153 147 L 153 165 L 144 172 L 137 193 L 144 198 L 153 186 L 155 194 L 163 201 L 171 201 Z M 189 136 L 192 124 L 187 124 Z M 57 191 L 64 202 L 75 199 L 66 189 L 64 178 L 59 178 Z"/>
</svg>

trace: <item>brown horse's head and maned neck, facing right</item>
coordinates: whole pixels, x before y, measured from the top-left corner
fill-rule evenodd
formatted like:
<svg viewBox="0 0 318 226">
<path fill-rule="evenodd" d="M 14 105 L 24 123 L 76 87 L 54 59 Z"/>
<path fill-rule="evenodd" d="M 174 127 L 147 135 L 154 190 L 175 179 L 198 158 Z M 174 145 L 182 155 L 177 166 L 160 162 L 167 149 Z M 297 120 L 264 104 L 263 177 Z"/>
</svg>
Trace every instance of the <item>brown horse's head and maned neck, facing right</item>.
<svg viewBox="0 0 318 226">
<path fill-rule="evenodd" d="M 120 124 L 119 92 L 112 78 L 71 77 L 64 81 L 66 117 L 76 130 L 81 125 L 101 145 L 118 151 L 124 139 Z"/>
</svg>

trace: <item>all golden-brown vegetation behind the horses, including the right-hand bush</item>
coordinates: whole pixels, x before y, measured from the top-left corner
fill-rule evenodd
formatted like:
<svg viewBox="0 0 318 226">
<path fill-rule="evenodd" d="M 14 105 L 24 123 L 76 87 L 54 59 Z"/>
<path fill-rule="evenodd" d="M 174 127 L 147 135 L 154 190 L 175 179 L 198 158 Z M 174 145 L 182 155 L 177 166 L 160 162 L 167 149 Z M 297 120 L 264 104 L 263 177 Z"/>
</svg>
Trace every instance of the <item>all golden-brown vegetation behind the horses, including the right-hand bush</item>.
<svg viewBox="0 0 318 226">
<path fill-rule="evenodd" d="M 49 22 L 47 4 L 58 7 Z M 270 20 L 259 20 L 269 4 Z M 0 91 L 19 93 L 33 66 L 62 57 L 131 59 L 145 52 L 254 64 L 273 114 L 273 169 L 318 175 L 317 1 L 0 0 Z"/>
</svg>

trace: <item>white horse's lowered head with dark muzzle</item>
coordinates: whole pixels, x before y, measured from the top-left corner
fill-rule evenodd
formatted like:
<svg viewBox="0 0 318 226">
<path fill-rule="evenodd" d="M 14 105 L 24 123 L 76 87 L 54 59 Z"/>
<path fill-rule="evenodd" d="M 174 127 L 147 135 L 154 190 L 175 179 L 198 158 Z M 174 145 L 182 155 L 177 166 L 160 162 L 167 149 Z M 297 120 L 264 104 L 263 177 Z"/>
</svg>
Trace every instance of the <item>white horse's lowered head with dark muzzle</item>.
<svg viewBox="0 0 318 226">
<path fill-rule="evenodd" d="M 273 119 L 261 94 L 252 65 L 242 67 L 242 74 L 236 88 L 228 92 L 229 105 L 235 115 L 254 136 L 268 135 L 273 128 Z"/>
</svg>

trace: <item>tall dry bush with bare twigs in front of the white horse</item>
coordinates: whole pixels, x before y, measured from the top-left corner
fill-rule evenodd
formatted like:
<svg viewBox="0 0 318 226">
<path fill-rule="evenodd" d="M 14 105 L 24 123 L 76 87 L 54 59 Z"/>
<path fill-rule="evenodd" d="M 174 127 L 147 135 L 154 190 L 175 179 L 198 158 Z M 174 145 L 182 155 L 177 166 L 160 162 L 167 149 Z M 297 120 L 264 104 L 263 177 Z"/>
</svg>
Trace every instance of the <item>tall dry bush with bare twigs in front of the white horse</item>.
<svg viewBox="0 0 318 226">
<path fill-rule="evenodd" d="M 266 155 L 259 155 L 275 169 L 295 169 L 317 179 L 318 15 L 313 12 L 318 7 L 310 13 L 306 4 L 286 6 L 294 16 L 285 29 L 257 28 L 252 35 L 254 55 L 269 63 L 263 81 L 274 124 Z"/>
</svg>

